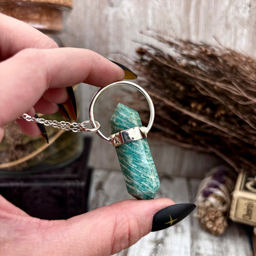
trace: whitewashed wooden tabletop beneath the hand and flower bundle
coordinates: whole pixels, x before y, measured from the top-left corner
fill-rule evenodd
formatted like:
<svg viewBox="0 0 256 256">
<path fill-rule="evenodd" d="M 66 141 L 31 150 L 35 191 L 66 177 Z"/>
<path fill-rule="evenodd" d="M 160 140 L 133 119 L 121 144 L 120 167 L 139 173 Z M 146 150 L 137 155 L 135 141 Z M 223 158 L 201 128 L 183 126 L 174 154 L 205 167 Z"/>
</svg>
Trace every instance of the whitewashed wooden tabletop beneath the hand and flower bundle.
<svg viewBox="0 0 256 256">
<path fill-rule="evenodd" d="M 159 179 L 157 197 L 176 203 L 194 202 L 200 179 L 167 175 L 159 175 Z M 121 171 L 94 171 L 90 210 L 131 198 Z M 252 256 L 252 249 L 244 225 L 232 222 L 224 234 L 214 236 L 201 229 L 192 213 L 169 229 L 149 233 L 115 256 Z"/>
</svg>

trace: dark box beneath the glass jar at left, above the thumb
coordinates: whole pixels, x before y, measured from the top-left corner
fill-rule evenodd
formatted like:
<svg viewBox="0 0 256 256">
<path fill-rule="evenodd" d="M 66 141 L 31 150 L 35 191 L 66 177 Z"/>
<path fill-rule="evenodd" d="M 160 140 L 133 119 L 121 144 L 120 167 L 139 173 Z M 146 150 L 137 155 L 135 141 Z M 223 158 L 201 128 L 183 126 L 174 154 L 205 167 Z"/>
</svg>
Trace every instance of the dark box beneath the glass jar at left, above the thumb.
<svg viewBox="0 0 256 256">
<path fill-rule="evenodd" d="M 80 158 L 60 169 L 0 174 L 0 195 L 40 219 L 68 219 L 87 211 L 92 170 L 87 166 L 91 139 Z"/>
</svg>

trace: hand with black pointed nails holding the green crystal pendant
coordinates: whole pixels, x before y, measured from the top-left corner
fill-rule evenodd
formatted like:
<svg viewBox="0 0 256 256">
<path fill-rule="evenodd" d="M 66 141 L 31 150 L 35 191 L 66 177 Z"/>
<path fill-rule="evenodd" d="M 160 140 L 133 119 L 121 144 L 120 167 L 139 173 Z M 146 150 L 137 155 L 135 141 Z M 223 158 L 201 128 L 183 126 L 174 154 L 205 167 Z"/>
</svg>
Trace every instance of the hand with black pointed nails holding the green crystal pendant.
<svg viewBox="0 0 256 256">
<path fill-rule="evenodd" d="M 97 53 L 59 49 L 36 29 L 2 14 L 0 31 L 0 140 L 2 126 L 24 112 L 58 111 L 56 103 L 68 98 L 64 87 L 81 82 L 104 86 L 124 77 L 120 67 Z M 35 123 L 18 122 L 26 134 L 40 135 Z M 194 207 L 173 204 L 167 198 L 126 200 L 71 219 L 49 221 L 27 215 L 0 196 L 0 255 L 109 256 L 151 229 L 180 221 Z"/>
</svg>

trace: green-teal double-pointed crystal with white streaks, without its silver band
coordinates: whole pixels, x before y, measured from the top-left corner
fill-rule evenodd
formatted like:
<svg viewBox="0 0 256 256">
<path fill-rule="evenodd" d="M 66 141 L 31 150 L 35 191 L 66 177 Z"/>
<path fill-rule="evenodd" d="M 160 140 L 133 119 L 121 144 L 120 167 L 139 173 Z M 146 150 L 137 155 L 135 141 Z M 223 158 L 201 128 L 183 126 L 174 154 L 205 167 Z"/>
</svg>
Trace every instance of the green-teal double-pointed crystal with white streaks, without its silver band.
<svg viewBox="0 0 256 256">
<path fill-rule="evenodd" d="M 142 126 L 138 112 L 121 103 L 110 124 L 112 134 Z M 146 138 L 116 146 L 116 152 L 128 193 L 136 199 L 153 199 L 160 182 Z"/>
</svg>

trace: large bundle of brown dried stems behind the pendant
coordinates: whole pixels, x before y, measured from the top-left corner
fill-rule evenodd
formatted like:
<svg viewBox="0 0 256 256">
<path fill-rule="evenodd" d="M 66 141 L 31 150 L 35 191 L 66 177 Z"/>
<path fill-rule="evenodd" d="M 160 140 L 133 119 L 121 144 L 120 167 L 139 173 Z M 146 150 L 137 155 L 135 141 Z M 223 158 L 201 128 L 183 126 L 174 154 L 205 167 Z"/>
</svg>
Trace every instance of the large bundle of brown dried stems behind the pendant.
<svg viewBox="0 0 256 256">
<path fill-rule="evenodd" d="M 213 152 L 236 171 L 256 171 L 256 60 L 230 49 L 155 38 L 168 53 L 145 45 L 133 67 L 155 104 L 152 136 Z M 140 100 L 132 104 L 146 122 Z"/>
</svg>

